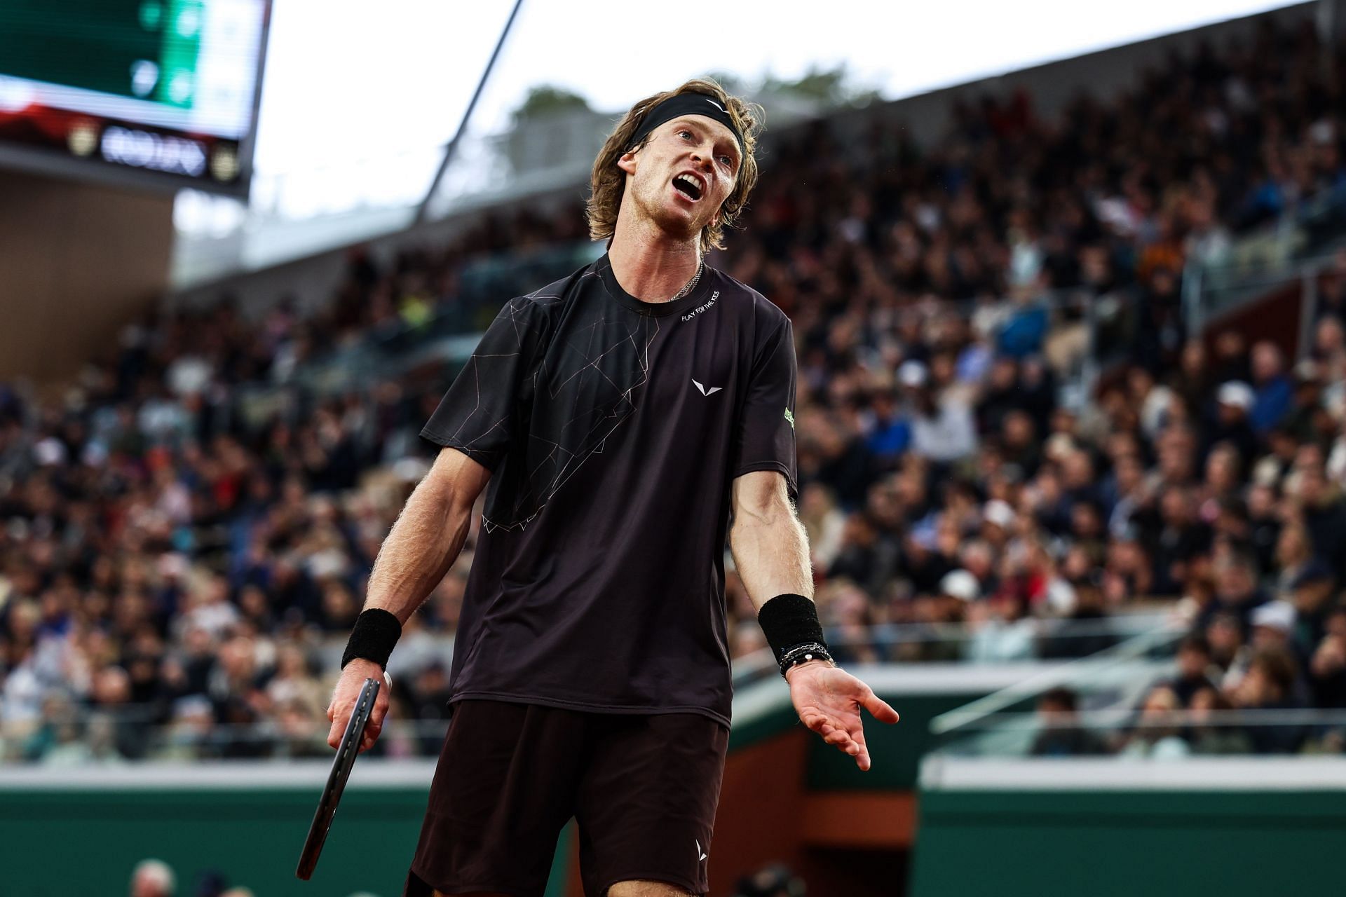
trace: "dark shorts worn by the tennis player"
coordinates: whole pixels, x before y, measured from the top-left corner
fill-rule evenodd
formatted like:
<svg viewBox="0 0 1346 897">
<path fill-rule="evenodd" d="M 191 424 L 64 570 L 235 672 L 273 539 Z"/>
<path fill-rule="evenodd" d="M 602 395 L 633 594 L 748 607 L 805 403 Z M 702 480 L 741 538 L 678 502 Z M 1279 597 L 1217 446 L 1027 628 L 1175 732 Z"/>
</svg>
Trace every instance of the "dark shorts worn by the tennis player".
<svg viewBox="0 0 1346 897">
<path fill-rule="evenodd" d="M 402 894 L 541 897 L 572 816 L 586 897 L 634 878 L 704 894 L 728 741 L 695 713 L 459 701 Z"/>
</svg>

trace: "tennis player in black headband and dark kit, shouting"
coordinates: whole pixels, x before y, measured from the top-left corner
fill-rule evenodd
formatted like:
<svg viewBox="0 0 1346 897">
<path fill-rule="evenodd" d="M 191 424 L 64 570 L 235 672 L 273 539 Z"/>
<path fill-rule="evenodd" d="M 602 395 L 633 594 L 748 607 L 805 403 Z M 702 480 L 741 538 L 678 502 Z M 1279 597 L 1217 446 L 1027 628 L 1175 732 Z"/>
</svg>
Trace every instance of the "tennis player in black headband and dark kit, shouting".
<svg viewBox="0 0 1346 897">
<path fill-rule="evenodd" d="M 860 709 L 898 719 L 832 662 L 809 597 L 790 320 L 703 260 L 756 180 L 759 126 L 711 81 L 638 102 L 594 164 L 607 254 L 507 303 L 421 430 L 443 449 L 378 554 L 327 710 L 335 745 L 486 490 L 408 897 L 540 897 L 572 816 L 588 897 L 707 892 L 725 539 L 808 728 L 868 769 Z"/>
</svg>

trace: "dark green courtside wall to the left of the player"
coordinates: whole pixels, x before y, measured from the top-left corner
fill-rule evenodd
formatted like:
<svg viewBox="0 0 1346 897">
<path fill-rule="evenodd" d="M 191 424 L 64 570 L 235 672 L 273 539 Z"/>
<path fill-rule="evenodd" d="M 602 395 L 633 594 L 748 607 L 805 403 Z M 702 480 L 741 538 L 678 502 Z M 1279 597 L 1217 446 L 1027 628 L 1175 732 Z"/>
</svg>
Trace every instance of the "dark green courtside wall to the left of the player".
<svg viewBox="0 0 1346 897">
<path fill-rule="evenodd" d="M 81 791 L 0 793 L 4 897 L 125 894 L 147 857 L 178 873 L 191 897 L 215 870 L 258 897 L 346 897 L 402 893 L 420 832 L 424 788 L 353 789 L 342 797 L 311 881 L 295 866 L 318 803 L 318 788 L 256 791 Z M 561 835 L 565 851 L 569 828 Z M 564 862 L 548 897 L 560 897 Z"/>
</svg>

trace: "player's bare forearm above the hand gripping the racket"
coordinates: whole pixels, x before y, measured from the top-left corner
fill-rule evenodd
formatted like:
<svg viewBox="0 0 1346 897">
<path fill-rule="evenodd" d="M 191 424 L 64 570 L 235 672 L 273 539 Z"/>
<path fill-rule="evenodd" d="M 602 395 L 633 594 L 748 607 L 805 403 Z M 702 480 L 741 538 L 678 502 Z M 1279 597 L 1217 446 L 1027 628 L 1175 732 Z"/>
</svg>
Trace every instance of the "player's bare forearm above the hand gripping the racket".
<svg viewBox="0 0 1346 897">
<path fill-rule="evenodd" d="M 365 608 L 382 608 L 405 624 L 454 566 L 471 515 L 471 499 L 455 494 L 454 484 L 421 480 L 378 551 Z"/>
</svg>

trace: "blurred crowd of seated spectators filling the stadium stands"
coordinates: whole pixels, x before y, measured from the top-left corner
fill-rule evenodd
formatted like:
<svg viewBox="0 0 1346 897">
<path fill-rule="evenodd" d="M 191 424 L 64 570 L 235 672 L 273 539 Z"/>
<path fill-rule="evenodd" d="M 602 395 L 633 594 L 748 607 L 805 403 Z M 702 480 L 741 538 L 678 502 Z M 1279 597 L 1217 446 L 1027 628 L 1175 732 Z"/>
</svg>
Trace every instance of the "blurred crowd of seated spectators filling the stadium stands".
<svg viewBox="0 0 1346 897">
<path fill-rule="evenodd" d="M 1323 52 L 1264 30 L 1053 120 L 958 102 L 927 149 L 878 118 L 773 144 L 713 264 L 794 321 L 798 510 L 844 660 L 1078 656 L 1159 602 L 1193 637 L 1151 702 L 1346 707 L 1346 254 L 1298 363 L 1179 308 L 1186 264 L 1346 192 L 1346 55 Z M 0 758 L 327 756 L 332 648 L 447 383 L 299 374 L 451 308 L 472 260 L 583 237 L 577 207 L 489 217 L 353 253 L 320 312 L 159 311 L 57 398 L 0 385 Z M 1066 403 L 1070 297 L 1105 296 L 1127 362 Z M 392 719 L 432 725 L 378 752 L 437 750 L 474 539 L 393 656 Z M 732 573 L 727 598 L 734 655 L 763 647 Z"/>
</svg>

